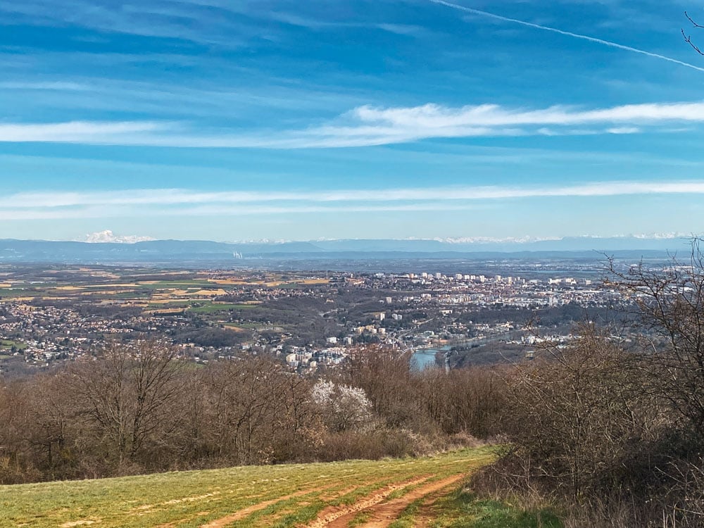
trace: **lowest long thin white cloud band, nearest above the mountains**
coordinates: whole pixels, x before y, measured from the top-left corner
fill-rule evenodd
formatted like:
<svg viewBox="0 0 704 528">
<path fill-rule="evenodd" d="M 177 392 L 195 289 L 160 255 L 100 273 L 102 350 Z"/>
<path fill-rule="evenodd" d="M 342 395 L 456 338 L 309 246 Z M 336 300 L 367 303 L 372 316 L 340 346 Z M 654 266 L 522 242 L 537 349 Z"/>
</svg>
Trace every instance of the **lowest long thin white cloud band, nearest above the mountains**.
<svg viewBox="0 0 704 528">
<path fill-rule="evenodd" d="M 704 180 L 590 182 L 553 186 L 481 186 L 322 191 L 129 189 L 19 193 L 0 199 L 0 219 L 110 218 L 125 215 L 279 215 L 371 211 L 467 210 L 507 199 L 704 194 Z"/>
</svg>

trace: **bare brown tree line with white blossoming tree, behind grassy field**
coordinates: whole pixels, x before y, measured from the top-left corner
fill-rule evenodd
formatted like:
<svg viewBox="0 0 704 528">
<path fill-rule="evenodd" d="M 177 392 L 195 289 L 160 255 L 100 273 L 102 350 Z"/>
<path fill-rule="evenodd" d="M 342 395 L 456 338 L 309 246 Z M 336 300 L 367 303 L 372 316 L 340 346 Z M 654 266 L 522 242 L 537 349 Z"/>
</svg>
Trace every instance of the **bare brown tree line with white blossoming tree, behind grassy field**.
<svg viewBox="0 0 704 528">
<path fill-rule="evenodd" d="M 277 358 L 194 365 L 159 342 L 111 343 L 0 389 L 0 483 L 428 453 L 493 432 L 484 372 L 414 372 L 356 349 L 322 376 Z"/>
</svg>

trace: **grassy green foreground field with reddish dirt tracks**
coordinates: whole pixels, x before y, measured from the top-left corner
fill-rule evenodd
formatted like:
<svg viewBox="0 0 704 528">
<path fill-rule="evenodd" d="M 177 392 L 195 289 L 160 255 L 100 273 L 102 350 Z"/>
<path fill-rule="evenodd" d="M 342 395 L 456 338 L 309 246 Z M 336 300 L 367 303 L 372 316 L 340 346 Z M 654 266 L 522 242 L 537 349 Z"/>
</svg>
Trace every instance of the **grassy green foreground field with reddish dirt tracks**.
<svg viewBox="0 0 704 528">
<path fill-rule="evenodd" d="M 482 511 L 468 514 L 459 490 L 494 458 L 494 449 L 478 448 L 428 458 L 0 486 L 0 526 L 283 528 L 365 526 L 380 519 L 369 525 L 410 527 L 430 519 L 427 526 L 472 526 L 467 522 L 481 522 Z"/>
</svg>

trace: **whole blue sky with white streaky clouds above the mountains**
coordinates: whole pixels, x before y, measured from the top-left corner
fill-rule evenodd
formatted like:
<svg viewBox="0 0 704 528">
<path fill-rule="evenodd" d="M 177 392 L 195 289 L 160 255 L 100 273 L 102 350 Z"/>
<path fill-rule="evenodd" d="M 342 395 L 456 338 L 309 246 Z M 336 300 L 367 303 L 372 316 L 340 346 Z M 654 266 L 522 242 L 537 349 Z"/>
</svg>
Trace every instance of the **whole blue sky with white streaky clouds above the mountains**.
<svg viewBox="0 0 704 528">
<path fill-rule="evenodd" d="M 0 238 L 700 233 L 685 10 L 0 0 Z"/>
</svg>

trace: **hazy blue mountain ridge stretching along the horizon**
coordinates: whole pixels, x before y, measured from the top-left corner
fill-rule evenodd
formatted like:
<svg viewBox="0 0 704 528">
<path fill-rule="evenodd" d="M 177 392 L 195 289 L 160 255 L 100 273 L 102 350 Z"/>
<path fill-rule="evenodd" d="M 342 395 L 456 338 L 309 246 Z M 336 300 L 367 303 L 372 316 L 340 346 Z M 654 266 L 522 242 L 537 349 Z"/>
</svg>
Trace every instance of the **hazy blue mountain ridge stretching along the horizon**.
<svg viewBox="0 0 704 528">
<path fill-rule="evenodd" d="M 640 237 L 566 237 L 541 241 L 442 241 L 433 239 L 340 239 L 287 242 L 216 242 L 149 240 L 75 242 L 0 239 L 1 262 L 160 263 L 177 261 L 232 262 L 249 259 L 330 258 L 490 258 L 546 256 L 548 253 L 689 252 L 689 239 Z"/>
</svg>

